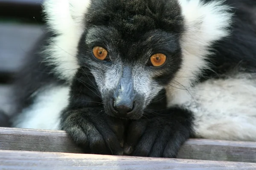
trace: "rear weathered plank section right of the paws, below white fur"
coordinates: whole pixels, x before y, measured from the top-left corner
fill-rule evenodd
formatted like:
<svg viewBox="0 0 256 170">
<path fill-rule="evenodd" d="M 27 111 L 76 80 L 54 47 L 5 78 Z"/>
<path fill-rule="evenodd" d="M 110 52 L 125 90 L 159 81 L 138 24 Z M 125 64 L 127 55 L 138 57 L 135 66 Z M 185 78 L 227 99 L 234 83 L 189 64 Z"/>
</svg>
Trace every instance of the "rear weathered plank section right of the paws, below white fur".
<svg viewBox="0 0 256 170">
<path fill-rule="evenodd" d="M 182 159 L 256 162 L 256 142 L 190 139 L 177 156 Z"/>
</svg>

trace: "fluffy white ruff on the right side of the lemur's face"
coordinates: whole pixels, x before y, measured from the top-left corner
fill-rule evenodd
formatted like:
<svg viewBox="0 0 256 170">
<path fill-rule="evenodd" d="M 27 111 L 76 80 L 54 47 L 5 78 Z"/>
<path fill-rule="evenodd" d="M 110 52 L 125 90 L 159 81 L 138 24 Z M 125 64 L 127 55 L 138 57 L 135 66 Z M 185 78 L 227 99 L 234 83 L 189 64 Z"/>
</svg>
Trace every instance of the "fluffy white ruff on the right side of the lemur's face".
<svg viewBox="0 0 256 170">
<path fill-rule="evenodd" d="M 230 7 L 223 5 L 223 1 L 217 0 L 207 4 L 201 3 L 201 0 L 179 2 L 186 31 L 180 42 L 183 54 L 182 67 L 175 79 L 166 87 L 172 103 L 179 102 L 177 98 L 180 97 L 175 97 L 176 95 L 186 96 L 186 90 L 177 88 L 189 88 L 191 83 L 197 80 L 196 77 L 202 69 L 208 68 L 209 63 L 204 59 L 209 55 L 209 46 L 228 35 L 227 27 L 230 26 L 232 18 L 232 14 L 229 13 Z"/>
</svg>

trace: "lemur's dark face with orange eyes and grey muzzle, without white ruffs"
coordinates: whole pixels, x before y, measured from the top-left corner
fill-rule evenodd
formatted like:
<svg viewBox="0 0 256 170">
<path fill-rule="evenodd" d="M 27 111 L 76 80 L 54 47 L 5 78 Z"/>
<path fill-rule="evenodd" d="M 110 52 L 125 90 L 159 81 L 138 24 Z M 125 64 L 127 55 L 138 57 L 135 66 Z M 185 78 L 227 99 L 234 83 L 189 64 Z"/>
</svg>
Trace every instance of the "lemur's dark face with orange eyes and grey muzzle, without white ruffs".
<svg viewBox="0 0 256 170">
<path fill-rule="evenodd" d="M 106 113 L 139 119 L 181 67 L 179 5 L 170 0 L 97 1 L 88 8 L 85 25 L 79 65 L 95 77 Z"/>
</svg>

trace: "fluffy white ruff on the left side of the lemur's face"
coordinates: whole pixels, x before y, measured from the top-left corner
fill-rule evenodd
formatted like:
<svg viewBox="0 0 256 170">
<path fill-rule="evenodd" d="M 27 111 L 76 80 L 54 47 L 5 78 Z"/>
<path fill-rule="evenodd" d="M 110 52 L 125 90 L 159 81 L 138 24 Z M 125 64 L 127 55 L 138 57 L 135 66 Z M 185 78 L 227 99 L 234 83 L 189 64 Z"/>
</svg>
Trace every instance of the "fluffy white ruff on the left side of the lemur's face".
<svg viewBox="0 0 256 170">
<path fill-rule="evenodd" d="M 84 31 L 84 14 L 90 0 L 45 0 L 49 29 L 59 34 L 52 38 L 46 48 L 46 60 L 57 65 L 55 71 L 61 78 L 71 80 L 79 67 L 76 54 L 81 34 Z"/>
</svg>

